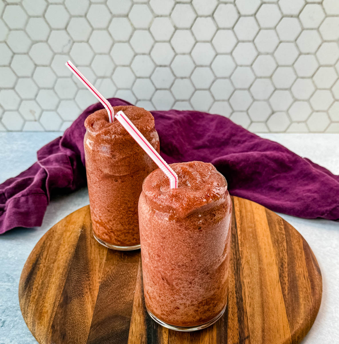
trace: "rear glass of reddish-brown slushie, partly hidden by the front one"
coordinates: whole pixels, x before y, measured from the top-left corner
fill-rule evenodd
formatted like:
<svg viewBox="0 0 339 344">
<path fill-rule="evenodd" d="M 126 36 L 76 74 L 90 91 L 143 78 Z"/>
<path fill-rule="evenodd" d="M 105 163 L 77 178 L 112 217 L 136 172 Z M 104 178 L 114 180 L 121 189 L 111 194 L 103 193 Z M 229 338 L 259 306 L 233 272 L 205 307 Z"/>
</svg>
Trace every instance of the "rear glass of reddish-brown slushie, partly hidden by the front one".
<svg viewBox="0 0 339 344">
<path fill-rule="evenodd" d="M 152 114 L 135 106 L 113 107 L 125 115 L 159 152 Z M 117 250 L 140 247 L 138 200 L 144 178 L 157 166 L 106 110 L 85 120 L 85 161 L 92 228 L 95 238 Z"/>
</svg>

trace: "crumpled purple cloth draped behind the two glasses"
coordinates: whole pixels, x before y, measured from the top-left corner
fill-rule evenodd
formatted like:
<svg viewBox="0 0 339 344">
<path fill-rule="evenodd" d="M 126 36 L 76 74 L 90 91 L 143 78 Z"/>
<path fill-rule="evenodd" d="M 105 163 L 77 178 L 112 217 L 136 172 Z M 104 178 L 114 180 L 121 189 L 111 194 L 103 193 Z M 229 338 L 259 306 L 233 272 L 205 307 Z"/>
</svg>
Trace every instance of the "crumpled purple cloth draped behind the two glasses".
<svg viewBox="0 0 339 344">
<path fill-rule="evenodd" d="M 109 101 L 130 105 L 118 98 Z M 86 184 L 84 120 L 101 108 L 100 103 L 88 107 L 62 137 L 37 152 L 35 164 L 0 185 L 0 234 L 40 226 L 53 194 Z M 289 215 L 339 220 L 339 176 L 327 169 L 219 115 L 177 110 L 152 114 L 168 163 L 211 162 L 232 195 Z"/>
</svg>

